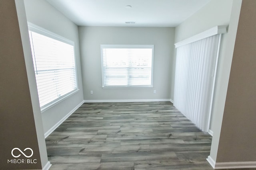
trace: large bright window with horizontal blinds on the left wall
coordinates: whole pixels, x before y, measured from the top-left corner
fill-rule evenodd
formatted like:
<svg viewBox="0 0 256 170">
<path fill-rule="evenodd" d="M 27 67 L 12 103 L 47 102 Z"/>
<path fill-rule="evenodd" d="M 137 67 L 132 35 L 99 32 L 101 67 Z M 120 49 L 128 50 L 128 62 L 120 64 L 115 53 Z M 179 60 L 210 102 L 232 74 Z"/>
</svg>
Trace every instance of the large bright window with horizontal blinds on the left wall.
<svg viewBox="0 0 256 170">
<path fill-rule="evenodd" d="M 29 23 L 41 111 L 78 90 L 74 42 Z"/>
</svg>

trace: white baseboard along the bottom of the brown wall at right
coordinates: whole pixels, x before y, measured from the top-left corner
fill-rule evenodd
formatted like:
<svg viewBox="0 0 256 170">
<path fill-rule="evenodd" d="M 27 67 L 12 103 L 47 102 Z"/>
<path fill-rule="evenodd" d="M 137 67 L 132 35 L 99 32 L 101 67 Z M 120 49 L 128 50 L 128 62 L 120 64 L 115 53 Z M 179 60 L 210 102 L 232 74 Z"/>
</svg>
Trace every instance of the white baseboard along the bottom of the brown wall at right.
<svg viewBox="0 0 256 170">
<path fill-rule="evenodd" d="M 237 168 L 256 168 L 256 161 L 248 162 L 215 162 L 211 156 L 206 160 L 214 169 L 237 169 Z"/>
</svg>

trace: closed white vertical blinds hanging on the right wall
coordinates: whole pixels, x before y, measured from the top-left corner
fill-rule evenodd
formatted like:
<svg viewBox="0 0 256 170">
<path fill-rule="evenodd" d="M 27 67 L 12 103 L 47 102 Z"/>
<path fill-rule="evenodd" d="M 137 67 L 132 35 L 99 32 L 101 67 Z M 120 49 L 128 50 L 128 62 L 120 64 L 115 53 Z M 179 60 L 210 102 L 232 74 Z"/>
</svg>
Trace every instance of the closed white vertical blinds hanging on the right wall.
<svg viewBox="0 0 256 170">
<path fill-rule="evenodd" d="M 220 34 L 177 48 L 174 106 L 208 131 L 214 70 Z"/>
</svg>

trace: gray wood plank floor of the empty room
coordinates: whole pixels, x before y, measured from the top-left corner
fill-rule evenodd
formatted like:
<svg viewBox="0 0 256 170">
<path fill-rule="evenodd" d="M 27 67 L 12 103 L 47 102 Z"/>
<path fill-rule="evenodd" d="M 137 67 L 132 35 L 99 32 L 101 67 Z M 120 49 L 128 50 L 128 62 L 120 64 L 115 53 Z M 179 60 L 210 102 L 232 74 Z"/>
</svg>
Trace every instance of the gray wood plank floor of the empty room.
<svg viewBox="0 0 256 170">
<path fill-rule="evenodd" d="M 84 103 L 46 146 L 50 170 L 212 170 L 211 141 L 170 102 Z"/>
</svg>

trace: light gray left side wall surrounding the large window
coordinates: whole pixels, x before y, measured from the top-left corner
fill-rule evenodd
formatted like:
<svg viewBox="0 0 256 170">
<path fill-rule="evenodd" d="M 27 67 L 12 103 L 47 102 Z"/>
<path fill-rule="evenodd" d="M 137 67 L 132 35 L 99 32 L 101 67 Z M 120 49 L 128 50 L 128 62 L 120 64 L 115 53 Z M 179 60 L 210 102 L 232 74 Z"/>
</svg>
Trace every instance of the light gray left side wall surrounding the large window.
<svg viewBox="0 0 256 170">
<path fill-rule="evenodd" d="M 42 113 L 44 133 L 46 133 L 83 101 L 78 27 L 45 0 L 24 0 L 24 4 L 29 22 L 70 39 L 75 43 L 78 88 L 80 90 Z M 37 93 L 36 91 L 34 92 Z"/>
</svg>

